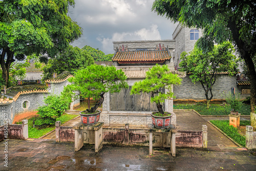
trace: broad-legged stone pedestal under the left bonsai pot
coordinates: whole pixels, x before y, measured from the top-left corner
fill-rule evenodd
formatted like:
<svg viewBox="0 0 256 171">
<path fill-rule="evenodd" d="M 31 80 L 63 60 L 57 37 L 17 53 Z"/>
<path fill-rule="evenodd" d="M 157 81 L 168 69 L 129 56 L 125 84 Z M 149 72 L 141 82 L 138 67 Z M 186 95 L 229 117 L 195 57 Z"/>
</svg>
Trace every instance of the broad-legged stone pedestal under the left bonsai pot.
<svg viewBox="0 0 256 171">
<path fill-rule="evenodd" d="M 82 123 L 78 123 L 73 126 L 73 129 L 75 130 L 75 151 L 79 151 L 79 149 L 83 146 L 83 141 L 85 140 L 90 144 L 95 144 L 95 153 L 98 153 L 102 148 L 103 124 L 103 122 L 98 122 L 95 125 L 84 126 Z"/>
</svg>

